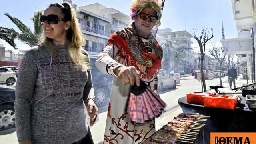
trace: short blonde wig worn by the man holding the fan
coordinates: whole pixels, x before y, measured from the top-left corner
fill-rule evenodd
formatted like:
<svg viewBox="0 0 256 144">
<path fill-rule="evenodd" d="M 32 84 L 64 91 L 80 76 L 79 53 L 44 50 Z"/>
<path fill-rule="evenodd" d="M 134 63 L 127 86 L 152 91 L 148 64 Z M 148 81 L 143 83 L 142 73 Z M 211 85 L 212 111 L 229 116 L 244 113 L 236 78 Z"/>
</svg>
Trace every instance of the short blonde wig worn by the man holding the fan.
<svg viewBox="0 0 256 144">
<path fill-rule="evenodd" d="M 156 4 L 156 2 L 154 2 L 154 0 L 139 0 L 136 6 L 135 15 L 140 14 L 140 12 L 142 12 L 142 10 L 144 10 L 145 8 L 151 8 L 152 10 L 156 11 L 158 20 L 155 22 L 154 26 L 155 27 L 160 26 L 161 25 L 160 19 L 162 18 L 162 12 L 160 7 Z M 132 20 L 135 20 L 134 17 L 135 16 L 132 16 Z"/>
</svg>

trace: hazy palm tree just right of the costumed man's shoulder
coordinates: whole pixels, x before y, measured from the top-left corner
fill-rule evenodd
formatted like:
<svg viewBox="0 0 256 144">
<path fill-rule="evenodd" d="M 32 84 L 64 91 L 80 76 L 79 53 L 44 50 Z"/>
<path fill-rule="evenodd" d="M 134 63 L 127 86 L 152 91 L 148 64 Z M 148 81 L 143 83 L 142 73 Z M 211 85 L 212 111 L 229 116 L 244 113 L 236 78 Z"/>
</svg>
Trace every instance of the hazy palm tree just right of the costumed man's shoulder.
<svg viewBox="0 0 256 144">
<path fill-rule="evenodd" d="M 164 69 L 168 72 L 170 72 L 170 64 L 171 62 L 177 62 L 177 60 L 179 59 L 174 59 L 174 56 L 177 57 L 177 54 L 182 54 L 184 52 L 184 50 L 182 50 L 182 48 L 174 48 L 172 46 L 172 42 L 166 42 L 166 43 L 162 43 L 161 44 L 162 48 L 163 48 L 163 62 L 164 62 Z M 183 58 L 184 58 L 184 54 L 183 54 Z M 181 62 L 182 60 L 178 61 Z M 176 67 L 174 67 L 175 69 Z M 178 69 L 177 71 L 178 72 Z"/>
</svg>

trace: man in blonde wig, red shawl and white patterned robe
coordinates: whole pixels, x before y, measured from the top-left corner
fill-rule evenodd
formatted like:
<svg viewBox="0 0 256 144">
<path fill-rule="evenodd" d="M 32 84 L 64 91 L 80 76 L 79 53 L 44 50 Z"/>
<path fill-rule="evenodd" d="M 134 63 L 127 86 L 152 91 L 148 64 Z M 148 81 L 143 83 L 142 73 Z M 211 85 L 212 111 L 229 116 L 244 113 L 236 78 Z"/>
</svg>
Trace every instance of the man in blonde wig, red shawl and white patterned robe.
<svg viewBox="0 0 256 144">
<path fill-rule="evenodd" d="M 126 113 L 130 85 L 140 86 L 140 79 L 157 95 L 162 48 L 151 30 L 162 17 L 161 0 L 134 0 L 134 22 L 115 32 L 96 59 L 96 67 L 113 75 L 112 90 L 104 134 L 104 144 L 138 144 L 156 131 L 155 118 L 144 123 L 132 122 Z M 158 117 L 158 116 L 156 116 Z"/>
</svg>

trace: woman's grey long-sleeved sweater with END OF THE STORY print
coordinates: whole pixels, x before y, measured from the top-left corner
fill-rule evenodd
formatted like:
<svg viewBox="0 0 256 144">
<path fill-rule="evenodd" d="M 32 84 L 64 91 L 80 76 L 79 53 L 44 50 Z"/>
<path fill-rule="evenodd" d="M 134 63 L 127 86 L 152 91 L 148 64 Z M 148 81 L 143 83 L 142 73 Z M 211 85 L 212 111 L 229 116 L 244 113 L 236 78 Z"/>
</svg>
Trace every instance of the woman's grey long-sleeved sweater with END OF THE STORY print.
<svg viewBox="0 0 256 144">
<path fill-rule="evenodd" d="M 28 50 L 16 84 L 15 122 L 18 141 L 70 144 L 88 132 L 85 107 L 94 98 L 90 70 L 77 66 L 67 45 L 54 45 L 56 60 L 42 47 Z"/>
</svg>

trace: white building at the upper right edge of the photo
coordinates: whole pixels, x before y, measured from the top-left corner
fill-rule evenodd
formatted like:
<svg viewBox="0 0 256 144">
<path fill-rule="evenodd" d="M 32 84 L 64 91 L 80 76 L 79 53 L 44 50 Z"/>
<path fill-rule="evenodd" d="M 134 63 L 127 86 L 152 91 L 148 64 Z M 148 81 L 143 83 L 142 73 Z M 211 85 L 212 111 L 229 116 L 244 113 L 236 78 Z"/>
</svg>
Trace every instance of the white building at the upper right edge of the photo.
<svg viewBox="0 0 256 144">
<path fill-rule="evenodd" d="M 255 0 L 231 0 L 238 38 L 220 40 L 228 55 L 240 55 L 238 66 L 247 69 L 251 82 L 255 82 Z M 246 61 L 242 61 L 246 60 Z M 247 61 L 248 60 L 248 61 Z"/>
</svg>

